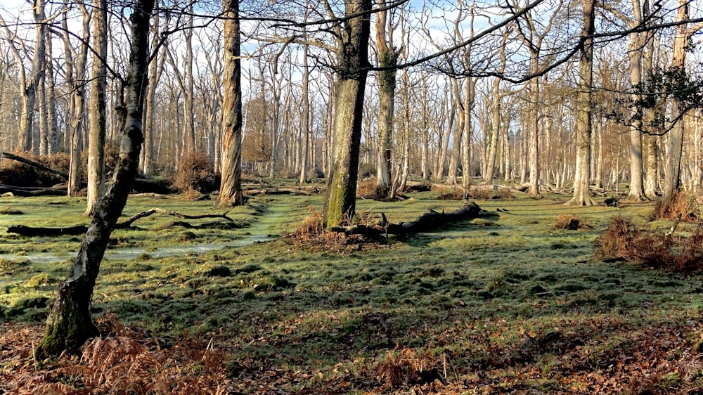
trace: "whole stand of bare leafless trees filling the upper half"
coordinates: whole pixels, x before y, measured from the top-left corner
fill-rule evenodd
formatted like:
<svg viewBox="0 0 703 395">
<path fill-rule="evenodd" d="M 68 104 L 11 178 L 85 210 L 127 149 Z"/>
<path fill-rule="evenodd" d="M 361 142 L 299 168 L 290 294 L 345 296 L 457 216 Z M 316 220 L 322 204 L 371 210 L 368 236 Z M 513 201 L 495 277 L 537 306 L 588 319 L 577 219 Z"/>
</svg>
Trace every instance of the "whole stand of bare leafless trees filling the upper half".
<svg viewBox="0 0 703 395">
<path fill-rule="evenodd" d="M 386 193 L 409 174 L 465 188 L 498 178 L 534 195 L 573 190 L 576 205 L 592 204 L 593 183 L 627 181 L 631 198 L 665 201 L 681 181 L 700 188 L 695 4 L 33 0 L 27 18 L 6 10 L 1 148 L 69 153 L 70 193 L 89 152 L 92 223 L 39 351 L 94 332 L 85 290 L 134 176 L 195 150 L 221 171 L 221 205 L 243 202 L 244 167 L 300 183 L 323 172 L 327 227 L 354 216 L 360 169 Z M 109 188 L 105 140 L 120 142 Z"/>
</svg>

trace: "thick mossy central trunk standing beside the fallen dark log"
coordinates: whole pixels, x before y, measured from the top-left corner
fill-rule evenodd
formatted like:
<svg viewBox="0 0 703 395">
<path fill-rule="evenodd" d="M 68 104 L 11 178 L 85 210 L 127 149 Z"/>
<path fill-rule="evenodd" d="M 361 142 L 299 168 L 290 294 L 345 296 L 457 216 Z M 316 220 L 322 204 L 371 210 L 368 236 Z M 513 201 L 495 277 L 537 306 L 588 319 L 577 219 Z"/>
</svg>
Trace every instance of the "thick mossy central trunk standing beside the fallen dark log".
<svg viewBox="0 0 703 395">
<path fill-rule="evenodd" d="M 328 181 L 323 224 L 340 226 L 356 210 L 356 178 L 359 174 L 363 96 L 368 65 L 371 0 L 344 0 L 335 103 L 334 164 Z"/>
</svg>

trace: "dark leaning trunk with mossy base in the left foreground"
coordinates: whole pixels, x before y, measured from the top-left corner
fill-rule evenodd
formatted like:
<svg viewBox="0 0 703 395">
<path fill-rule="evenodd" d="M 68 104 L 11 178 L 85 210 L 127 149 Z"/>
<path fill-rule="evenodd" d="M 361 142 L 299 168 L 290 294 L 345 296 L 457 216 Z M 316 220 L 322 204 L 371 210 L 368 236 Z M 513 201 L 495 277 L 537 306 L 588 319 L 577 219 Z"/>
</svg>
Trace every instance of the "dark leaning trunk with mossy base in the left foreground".
<svg viewBox="0 0 703 395">
<path fill-rule="evenodd" d="M 134 3 L 134 11 L 130 17 L 127 119 L 115 176 L 107 193 L 98 201 L 96 213 L 77 257 L 73 260 L 68 278 L 59 285 L 58 297 L 46 319 L 44 338 L 35 351 L 40 360 L 46 356 L 58 355 L 64 350 L 77 351 L 86 339 L 98 334 L 91 320 L 90 304 L 110 233 L 127 203 L 139 163 L 143 85 L 147 81 L 147 49 L 152 8 L 153 0 L 138 0 Z"/>
</svg>

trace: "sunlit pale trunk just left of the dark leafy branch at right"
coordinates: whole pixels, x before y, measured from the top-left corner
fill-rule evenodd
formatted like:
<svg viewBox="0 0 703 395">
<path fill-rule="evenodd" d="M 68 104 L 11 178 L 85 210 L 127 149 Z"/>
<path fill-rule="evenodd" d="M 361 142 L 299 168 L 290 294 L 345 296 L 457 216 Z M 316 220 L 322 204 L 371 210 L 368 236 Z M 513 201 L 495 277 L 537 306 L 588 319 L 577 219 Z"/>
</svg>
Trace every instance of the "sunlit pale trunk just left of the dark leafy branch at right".
<svg viewBox="0 0 703 395">
<path fill-rule="evenodd" d="M 593 129 L 593 39 L 595 32 L 595 0 L 583 0 L 583 28 L 579 58 L 579 83 L 576 86 L 576 174 L 574 197 L 567 205 L 591 206 L 589 171 L 591 170 L 591 131 Z"/>
</svg>

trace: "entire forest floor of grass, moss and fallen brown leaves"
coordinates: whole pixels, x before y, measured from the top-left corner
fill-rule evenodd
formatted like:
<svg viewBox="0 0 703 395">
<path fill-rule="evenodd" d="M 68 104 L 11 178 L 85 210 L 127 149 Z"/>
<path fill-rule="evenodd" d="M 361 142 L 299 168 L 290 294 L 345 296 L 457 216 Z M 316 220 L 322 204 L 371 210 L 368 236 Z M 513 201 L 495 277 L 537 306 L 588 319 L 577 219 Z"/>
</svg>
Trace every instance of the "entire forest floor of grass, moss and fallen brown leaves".
<svg viewBox="0 0 703 395">
<path fill-rule="evenodd" d="M 703 394 L 702 276 L 594 258 L 613 216 L 671 224 L 647 221 L 647 203 L 514 195 L 440 231 L 336 247 L 278 237 L 323 195 L 253 197 L 228 212 L 237 228 L 140 219 L 101 265 L 101 337 L 47 361 L 32 348 L 81 238 L 5 231 L 87 224 L 84 200 L 2 197 L 0 394 Z M 397 223 L 462 205 L 407 197 L 357 211 Z M 124 219 L 152 207 L 223 212 L 132 197 Z M 560 215 L 587 226 L 556 229 Z"/>
</svg>

